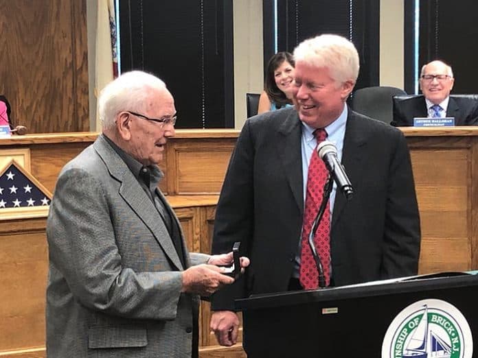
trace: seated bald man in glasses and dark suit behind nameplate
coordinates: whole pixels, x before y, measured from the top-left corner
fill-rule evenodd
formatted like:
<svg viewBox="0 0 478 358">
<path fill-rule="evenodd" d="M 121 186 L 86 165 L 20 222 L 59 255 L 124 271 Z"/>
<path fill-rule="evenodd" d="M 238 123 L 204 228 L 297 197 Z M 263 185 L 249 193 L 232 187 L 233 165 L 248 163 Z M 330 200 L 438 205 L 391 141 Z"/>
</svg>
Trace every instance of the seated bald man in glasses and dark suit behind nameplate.
<svg viewBox="0 0 478 358">
<path fill-rule="evenodd" d="M 450 91 L 455 79 L 448 64 L 432 61 L 422 67 L 420 89 L 423 95 L 396 101 L 392 126 L 413 126 L 415 117 L 454 117 L 455 126 L 475 126 L 478 123 L 478 101 L 452 98 Z"/>
</svg>

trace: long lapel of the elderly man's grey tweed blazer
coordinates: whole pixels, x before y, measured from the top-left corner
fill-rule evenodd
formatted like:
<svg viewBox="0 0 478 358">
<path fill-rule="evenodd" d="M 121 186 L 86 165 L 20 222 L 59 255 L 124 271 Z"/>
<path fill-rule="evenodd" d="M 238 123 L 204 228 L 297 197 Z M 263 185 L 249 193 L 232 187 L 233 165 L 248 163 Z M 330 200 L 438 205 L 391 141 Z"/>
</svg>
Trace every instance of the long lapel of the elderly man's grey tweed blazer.
<svg viewBox="0 0 478 358">
<path fill-rule="evenodd" d="M 157 213 L 157 208 L 141 188 L 133 173 L 102 136 L 99 136 L 98 140 L 95 141 L 95 150 L 102 157 L 111 176 L 121 182 L 119 190 L 121 197 L 150 229 L 170 261 L 179 270 L 183 270 L 183 265 L 181 265 L 168 229 L 159 213 Z M 174 218 L 176 217 L 174 216 Z"/>
</svg>

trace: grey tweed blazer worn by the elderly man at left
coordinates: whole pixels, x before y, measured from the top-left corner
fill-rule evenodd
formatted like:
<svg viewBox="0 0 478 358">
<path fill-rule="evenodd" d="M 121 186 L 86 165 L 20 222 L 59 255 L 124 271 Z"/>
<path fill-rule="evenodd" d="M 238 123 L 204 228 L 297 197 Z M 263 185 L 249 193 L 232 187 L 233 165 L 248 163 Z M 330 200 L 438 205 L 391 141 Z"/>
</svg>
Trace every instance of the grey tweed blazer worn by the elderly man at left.
<svg viewBox="0 0 478 358">
<path fill-rule="evenodd" d="M 191 357 L 198 297 L 181 294 L 168 230 L 103 136 L 62 169 L 47 240 L 48 357 Z M 187 267 L 209 258 L 183 248 Z"/>
</svg>

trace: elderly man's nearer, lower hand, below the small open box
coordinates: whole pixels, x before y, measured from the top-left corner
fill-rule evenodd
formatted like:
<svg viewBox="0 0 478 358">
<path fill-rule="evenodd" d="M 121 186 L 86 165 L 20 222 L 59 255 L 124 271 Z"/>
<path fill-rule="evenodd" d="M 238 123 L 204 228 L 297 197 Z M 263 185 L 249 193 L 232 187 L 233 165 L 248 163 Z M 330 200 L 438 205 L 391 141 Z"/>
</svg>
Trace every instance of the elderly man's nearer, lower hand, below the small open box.
<svg viewBox="0 0 478 358">
<path fill-rule="evenodd" d="M 183 292 L 210 296 L 224 285 L 234 283 L 234 278 L 223 274 L 224 268 L 215 265 L 195 265 L 183 272 Z"/>
</svg>

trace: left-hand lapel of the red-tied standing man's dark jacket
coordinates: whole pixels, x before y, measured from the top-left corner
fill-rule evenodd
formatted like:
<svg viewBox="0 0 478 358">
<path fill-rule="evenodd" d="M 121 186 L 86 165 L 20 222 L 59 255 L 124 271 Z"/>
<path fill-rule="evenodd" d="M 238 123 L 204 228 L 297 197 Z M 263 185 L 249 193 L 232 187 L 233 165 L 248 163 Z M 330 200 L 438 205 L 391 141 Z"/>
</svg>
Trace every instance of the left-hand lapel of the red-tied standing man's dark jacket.
<svg viewBox="0 0 478 358">
<path fill-rule="evenodd" d="M 277 131 L 277 152 L 299 212 L 304 212 L 301 160 L 301 126 L 297 112 L 291 111 Z"/>
</svg>

